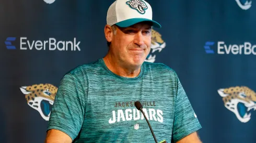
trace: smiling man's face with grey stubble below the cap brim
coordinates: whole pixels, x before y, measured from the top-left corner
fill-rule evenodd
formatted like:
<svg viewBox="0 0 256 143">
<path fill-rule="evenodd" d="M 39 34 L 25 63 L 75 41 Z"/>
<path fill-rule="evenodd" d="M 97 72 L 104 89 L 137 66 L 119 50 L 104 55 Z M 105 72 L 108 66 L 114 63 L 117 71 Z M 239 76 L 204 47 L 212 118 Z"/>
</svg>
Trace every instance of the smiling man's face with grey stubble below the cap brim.
<svg viewBox="0 0 256 143">
<path fill-rule="evenodd" d="M 127 28 L 117 28 L 111 41 L 111 50 L 123 66 L 140 66 L 150 52 L 151 25 L 137 23 Z"/>
</svg>

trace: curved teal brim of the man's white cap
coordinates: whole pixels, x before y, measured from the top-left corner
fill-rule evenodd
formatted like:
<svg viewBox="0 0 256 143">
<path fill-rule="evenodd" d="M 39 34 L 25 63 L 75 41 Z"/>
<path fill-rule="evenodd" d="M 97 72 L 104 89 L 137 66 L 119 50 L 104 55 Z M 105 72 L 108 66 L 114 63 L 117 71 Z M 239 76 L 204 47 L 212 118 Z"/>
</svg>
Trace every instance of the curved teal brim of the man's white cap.
<svg viewBox="0 0 256 143">
<path fill-rule="evenodd" d="M 115 24 L 117 24 L 119 27 L 125 28 L 125 27 L 130 27 L 133 24 L 144 22 L 144 21 L 150 21 L 153 23 L 153 27 L 161 28 L 161 25 L 158 22 L 154 20 L 146 19 L 146 18 L 132 18 L 132 19 L 127 19 L 127 20 L 115 23 Z"/>
</svg>

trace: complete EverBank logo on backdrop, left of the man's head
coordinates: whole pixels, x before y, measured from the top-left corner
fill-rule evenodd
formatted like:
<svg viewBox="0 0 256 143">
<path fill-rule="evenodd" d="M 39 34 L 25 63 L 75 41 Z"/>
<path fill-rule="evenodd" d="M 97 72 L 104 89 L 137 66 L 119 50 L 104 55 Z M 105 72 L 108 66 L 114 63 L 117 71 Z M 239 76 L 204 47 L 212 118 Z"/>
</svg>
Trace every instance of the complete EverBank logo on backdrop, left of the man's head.
<svg viewBox="0 0 256 143">
<path fill-rule="evenodd" d="M 76 37 L 72 41 L 57 41 L 56 38 L 50 37 L 48 40 L 29 40 L 27 37 L 19 38 L 20 50 L 60 50 L 60 51 L 80 51 L 80 41 L 76 40 Z M 14 46 L 16 37 L 7 37 L 5 44 L 7 49 L 17 49 L 17 45 Z"/>
</svg>

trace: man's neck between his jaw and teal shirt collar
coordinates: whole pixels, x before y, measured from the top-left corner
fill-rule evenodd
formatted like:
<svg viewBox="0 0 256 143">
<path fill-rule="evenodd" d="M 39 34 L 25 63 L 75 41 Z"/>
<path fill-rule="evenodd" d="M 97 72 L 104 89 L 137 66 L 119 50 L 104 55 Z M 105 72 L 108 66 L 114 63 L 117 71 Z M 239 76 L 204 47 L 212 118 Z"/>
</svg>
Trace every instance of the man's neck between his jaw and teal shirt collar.
<svg viewBox="0 0 256 143">
<path fill-rule="evenodd" d="M 129 67 L 123 66 L 117 60 L 113 60 L 111 55 L 107 55 L 103 58 L 104 63 L 106 64 L 107 68 L 112 71 L 113 73 L 123 76 L 123 77 L 136 77 L 141 72 L 141 67 Z"/>
</svg>

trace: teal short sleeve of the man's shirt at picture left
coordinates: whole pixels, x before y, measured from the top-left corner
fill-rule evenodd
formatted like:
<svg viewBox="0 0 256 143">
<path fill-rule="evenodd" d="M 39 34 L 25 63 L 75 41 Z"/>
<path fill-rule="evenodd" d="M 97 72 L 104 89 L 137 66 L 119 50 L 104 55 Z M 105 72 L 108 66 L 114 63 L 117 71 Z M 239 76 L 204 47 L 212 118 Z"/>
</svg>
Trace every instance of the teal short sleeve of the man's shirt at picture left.
<svg viewBox="0 0 256 143">
<path fill-rule="evenodd" d="M 57 90 L 49 123 L 49 129 L 58 129 L 74 140 L 84 121 L 86 95 L 76 76 L 67 73 Z"/>
</svg>

